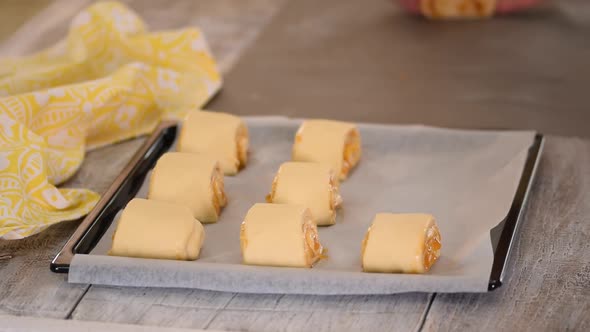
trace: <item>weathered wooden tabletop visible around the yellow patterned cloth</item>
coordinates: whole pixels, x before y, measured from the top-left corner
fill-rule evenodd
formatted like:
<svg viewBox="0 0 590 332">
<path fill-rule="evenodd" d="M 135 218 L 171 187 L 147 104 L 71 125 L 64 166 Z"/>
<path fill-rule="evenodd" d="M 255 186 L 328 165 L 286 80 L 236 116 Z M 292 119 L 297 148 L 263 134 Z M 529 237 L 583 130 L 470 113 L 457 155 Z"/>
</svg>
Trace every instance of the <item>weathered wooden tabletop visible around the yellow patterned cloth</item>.
<svg viewBox="0 0 590 332">
<path fill-rule="evenodd" d="M 154 30 L 202 26 L 224 71 L 282 4 L 282 0 L 126 2 Z M 73 15 L 88 3 L 58 0 L 45 10 L 32 13 L 32 19 L 18 28 L 18 38 L 9 38 L 0 46 L 4 51 L 1 54 L 27 54 L 58 41 Z M 5 12 L 8 5 L 13 2 L 0 3 L 1 17 L 10 12 Z M 43 34 L 36 33 L 36 28 L 43 30 Z M 64 187 L 103 192 L 142 142 L 143 139 L 130 140 L 88 153 L 80 171 Z M 0 260 L 0 314 L 69 317 L 88 286 L 68 284 L 65 275 L 50 272 L 49 262 L 77 224 L 64 222 L 24 240 L 0 241 L 0 256 L 12 256 Z"/>
</svg>

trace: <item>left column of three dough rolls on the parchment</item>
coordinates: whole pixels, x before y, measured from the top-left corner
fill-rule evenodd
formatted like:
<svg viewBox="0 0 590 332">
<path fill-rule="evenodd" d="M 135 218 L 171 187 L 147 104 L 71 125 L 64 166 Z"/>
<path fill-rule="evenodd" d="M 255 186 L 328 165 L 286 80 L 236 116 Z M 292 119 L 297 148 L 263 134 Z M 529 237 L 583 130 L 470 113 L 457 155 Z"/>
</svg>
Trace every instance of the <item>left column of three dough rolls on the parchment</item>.
<svg viewBox="0 0 590 332">
<path fill-rule="evenodd" d="M 190 112 L 178 152 L 163 154 L 152 171 L 148 199 L 135 198 L 123 210 L 109 254 L 196 260 L 205 238 L 201 223 L 219 220 L 227 204 L 224 174 L 245 167 L 248 145 L 239 117 Z"/>
</svg>

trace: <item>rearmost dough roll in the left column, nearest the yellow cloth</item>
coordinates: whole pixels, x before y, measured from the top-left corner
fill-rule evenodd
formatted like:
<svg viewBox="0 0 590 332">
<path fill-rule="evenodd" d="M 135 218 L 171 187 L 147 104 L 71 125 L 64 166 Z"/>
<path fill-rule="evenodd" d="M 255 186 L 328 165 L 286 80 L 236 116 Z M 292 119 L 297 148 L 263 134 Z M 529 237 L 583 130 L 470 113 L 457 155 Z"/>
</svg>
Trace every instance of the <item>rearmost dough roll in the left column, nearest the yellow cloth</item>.
<svg viewBox="0 0 590 332">
<path fill-rule="evenodd" d="M 237 116 L 193 111 L 182 122 L 178 151 L 210 154 L 226 175 L 235 175 L 248 161 L 248 128 Z"/>
</svg>

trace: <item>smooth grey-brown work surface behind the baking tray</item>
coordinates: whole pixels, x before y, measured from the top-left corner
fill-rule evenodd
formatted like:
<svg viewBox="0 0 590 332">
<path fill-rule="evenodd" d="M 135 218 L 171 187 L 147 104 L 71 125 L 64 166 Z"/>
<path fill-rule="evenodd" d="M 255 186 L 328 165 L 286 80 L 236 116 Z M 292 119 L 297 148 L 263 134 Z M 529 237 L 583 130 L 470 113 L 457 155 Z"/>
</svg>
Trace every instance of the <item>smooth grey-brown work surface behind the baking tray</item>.
<svg viewBox="0 0 590 332">
<path fill-rule="evenodd" d="M 290 1 L 210 108 L 590 137 L 590 25 L 555 3 L 445 22 L 388 1 Z"/>
</svg>

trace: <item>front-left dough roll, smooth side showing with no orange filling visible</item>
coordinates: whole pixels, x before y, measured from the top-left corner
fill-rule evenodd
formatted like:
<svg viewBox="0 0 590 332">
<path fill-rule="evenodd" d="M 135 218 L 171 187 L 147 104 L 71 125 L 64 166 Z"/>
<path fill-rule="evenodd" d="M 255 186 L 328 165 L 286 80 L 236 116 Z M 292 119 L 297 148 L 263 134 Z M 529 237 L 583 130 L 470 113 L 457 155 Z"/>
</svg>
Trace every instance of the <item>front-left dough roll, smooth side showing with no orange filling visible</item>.
<svg viewBox="0 0 590 332">
<path fill-rule="evenodd" d="M 121 214 L 109 255 L 195 260 L 205 230 L 182 205 L 132 199 Z"/>
</svg>

